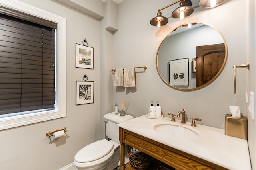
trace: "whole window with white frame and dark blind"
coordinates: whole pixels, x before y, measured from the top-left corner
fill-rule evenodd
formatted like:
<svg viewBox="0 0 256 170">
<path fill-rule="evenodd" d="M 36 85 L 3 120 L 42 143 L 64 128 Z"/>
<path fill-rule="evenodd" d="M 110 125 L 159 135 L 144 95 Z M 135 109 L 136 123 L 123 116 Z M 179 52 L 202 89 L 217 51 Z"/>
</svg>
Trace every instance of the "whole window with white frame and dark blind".
<svg viewBox="0 0 256 170">
<path fill-rule="evenodd" d="M 22 2 L 0 2 L 0 130 L 66 116 L 65 26 Z"/>
</svg>

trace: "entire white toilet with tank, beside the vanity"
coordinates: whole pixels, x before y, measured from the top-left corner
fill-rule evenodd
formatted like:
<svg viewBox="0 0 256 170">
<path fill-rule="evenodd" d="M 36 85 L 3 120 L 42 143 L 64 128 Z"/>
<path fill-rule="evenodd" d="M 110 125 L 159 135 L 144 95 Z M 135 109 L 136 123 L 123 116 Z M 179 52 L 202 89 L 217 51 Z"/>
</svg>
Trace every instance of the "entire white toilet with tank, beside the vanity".
<svg viewBox="0 0 256 170">
<path fill-rule="evenodd" d="M 113 170 L 120 160 L 120 142 L 118 123 L 133 119 L 130 115 L 120 116 L 115 112 L 108 113 L 105 119 L 106 136 L 110 141 L 102 139 L 79 150 L 74 158 L 78 170 Z"/>
</svg>

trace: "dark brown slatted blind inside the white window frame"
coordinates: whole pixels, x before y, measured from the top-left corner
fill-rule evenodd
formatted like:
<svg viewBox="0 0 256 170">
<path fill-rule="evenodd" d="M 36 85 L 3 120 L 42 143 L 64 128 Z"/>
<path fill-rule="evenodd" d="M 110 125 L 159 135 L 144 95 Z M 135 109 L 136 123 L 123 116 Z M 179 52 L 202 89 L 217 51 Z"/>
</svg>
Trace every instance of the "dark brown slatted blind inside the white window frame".
<svg viewBox="0 0 256 170">
<path fill-rule="evenodd" d="M 0 14 L 0 115 L 55 109 L 56 29 Z"/>
</svg>

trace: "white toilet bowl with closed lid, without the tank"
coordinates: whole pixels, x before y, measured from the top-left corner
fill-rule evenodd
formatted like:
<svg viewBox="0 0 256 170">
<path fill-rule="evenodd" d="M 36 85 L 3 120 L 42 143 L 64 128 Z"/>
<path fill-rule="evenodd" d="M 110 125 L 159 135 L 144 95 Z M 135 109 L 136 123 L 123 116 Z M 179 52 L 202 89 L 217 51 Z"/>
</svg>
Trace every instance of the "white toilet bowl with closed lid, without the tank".
<svg viewBox="0 0 256 170">
<path fill-rule="evenodd" d="M 102 139 L 77 152 L 74 165 L 78 170 L 113 170 L 120 160 L 120 144 Z"/>
</svg>

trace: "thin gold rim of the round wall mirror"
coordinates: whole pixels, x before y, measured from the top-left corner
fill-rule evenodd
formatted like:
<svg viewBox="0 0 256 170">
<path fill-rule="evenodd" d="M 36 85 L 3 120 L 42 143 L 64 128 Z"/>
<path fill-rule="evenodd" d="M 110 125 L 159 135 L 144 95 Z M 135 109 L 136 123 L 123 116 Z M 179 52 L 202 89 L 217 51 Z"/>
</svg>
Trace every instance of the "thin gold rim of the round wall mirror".
<svg viewBox="0 0 256 170">
<path fill-rule="evenodd" d="M 208 24 L 202 23 L 202 22 L 189 22 L 189 23 L 191 23 L 192 25 L 195 25 L 195 24 L 197 24 L 197 23 L 200 23 L 200 24 L 204 24 L 204 25 L 207 25 L 207 26 L 209 26 L 209 27 L 212 27 L 211 25 L 208 25 Z M 224 41 L 224 45 L 225 45 L 225 58 L 224 58 L 223 64 L 222 64 L 220 70 L 218 71 L 218 73 L 217 73 L 209 82 L 207 82 L 206 84 L 203 84 L 202 86 L 196 87 L 196 88 L 183 89 L 183 88 L 177 88 L 177 87 L 175 87 L 175 86 L 172 86 L 172 85 L 170 85 L 168 82 L 166 82 L 166 80 L 164 80 L 164 78 L 161 76 L 161 74 L 160 74 L 160 72 L 159 72 L 159 70 L 158 70 L 158 51 L 159 51 L 159 49 L 160 49 L 162 43 L 163 43 L 164 40 L 166 39 L 166 37 L 168 37 L 168 35 L 170 35 L 170 33 L 172 33 L 172 31 L 175 31 L 176 29 L 178 29 L 179 27 L 182 27 L 183 25 L 188 25 L 188 23 L 184 23 L 184 24 L 179 25 L 178 27 L 172 29 L 172 30 L 164 37 L 164 39 L 161 41 L 161 43 L 160 43 L 160 45 L 159 45 L 159 47 L 158 47 L 158 49 L 157 49 L 157 52 L 156 52 L 156 70 L 157 70 L 157 72 L 158 72 L 158 75 L 159 75 L 160 78 L 162 79 L 162 81 L 163 81 L 165 84 L 167 84 L 168 86 L 170 86 L 171 88 L 174 88 L 174 89 L 176 89 L 176 90 L 181 90 L 181 91 L 193 91 L 193 90 L 198 90 L 198 89 L 200 89 L 200 88 L 203 88 L 203 87 L 205 87 L 205 86 L 208 86 L 210 83 L 212 83 L 212 82 L 220 75 L 220 73 L 222 72 L 222 70 L 223 70 L 223 68 L 224 68 L 224 66 L 225 66 L 225 64 L 226 64 L 227 58 L 228 58 L 228 47 L 227 47 L 226 40 L 224 39 L 224 36 L 222 35 L 222 33 L 221 33 L 218 29 L 216 29 L 215 27 L 212 27 L 213 29 L 215 29 L 215 30 L 220 34 L 220 36 L 222 37 L 222 39 L 223 39 L 223 41 Z M 191 70 L 191 69 L 190 69 L 190 70 Z"/>
</svg>

